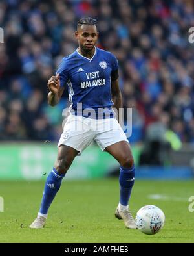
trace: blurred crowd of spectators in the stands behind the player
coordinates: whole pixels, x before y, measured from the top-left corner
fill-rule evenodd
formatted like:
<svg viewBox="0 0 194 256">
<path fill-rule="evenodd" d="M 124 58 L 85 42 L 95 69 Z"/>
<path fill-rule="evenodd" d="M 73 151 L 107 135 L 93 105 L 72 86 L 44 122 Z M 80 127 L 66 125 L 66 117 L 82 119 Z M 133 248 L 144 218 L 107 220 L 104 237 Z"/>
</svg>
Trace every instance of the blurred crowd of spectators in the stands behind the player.
<svg viewBox="0 0 194 256">
<path fill-rule="evenodd" d="M 76 22 L 87 16 L 98 21 L 98 47 L 119 60 L 129 140 L 170 131 L 194 143 L 193 0 L 0 1 L 0 140 L 58 140 L 68 93 L 49 107 L 47 80 L 76 49 Z"/>
</svg>

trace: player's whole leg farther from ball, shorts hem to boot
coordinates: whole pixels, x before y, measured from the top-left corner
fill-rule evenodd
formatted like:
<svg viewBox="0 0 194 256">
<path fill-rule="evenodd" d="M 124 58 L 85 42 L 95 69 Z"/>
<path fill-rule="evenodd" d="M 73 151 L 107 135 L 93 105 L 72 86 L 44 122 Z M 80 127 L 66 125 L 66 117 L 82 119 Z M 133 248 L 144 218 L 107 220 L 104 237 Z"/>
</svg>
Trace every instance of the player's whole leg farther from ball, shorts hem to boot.
<svg viewBox="0 0 194 256">
<path fill-rule="evenodd" d="M 30 228 L 39 229 L 44 227 L 47 220 L 48 209 L 61 186 L 63 177 L 65 177 L 76 155 L 78 155 L 78 151 L 72 147 L 65 145 L 59 147 L 58 158 L 52 172 L 50 172 L 47 177 L 41 208 L 39 209 L 36 220 L 30 225 Z"/>
</svg>

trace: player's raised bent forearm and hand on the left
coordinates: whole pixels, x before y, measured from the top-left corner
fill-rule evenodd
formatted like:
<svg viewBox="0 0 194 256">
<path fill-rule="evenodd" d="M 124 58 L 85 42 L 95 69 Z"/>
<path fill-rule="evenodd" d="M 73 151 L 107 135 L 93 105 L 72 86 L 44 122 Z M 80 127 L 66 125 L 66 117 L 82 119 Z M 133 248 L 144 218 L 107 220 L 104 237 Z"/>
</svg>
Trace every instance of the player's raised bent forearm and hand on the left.
<svg viewBox="0 0 194 256">
<path fill-rule="evenodd" d="M 63 94 L 64 87 L 60 86 L 60 79 L 59 79 L 59 74 L 56 76 L 53 75 L 49 80 L 48 80 L 48 89 L 50 92 L 48 93 L 48 104 L 52 107 L 56 106 Z"/>
</svg>

